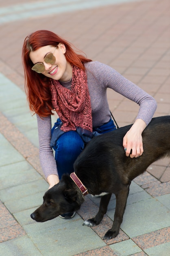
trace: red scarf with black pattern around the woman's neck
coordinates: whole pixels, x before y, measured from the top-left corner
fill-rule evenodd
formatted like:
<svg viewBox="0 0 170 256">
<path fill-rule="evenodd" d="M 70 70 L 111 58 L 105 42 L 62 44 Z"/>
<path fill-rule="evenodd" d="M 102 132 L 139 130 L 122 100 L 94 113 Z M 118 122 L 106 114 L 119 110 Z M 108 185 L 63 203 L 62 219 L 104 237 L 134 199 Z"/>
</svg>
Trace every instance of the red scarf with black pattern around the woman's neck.
<svg viewBox="0 0 170 256">
<path fill-rule="evenodd" d="M 63 87 L 59 81 L 51 80 L 52 105 L 63 123 L 61 130 L 67 132 L 81 127 L 92 132 L 92 108 L 87 76 L 77 66 L 72 66 L 72 72 L 71 90 Z"/>
</svg>

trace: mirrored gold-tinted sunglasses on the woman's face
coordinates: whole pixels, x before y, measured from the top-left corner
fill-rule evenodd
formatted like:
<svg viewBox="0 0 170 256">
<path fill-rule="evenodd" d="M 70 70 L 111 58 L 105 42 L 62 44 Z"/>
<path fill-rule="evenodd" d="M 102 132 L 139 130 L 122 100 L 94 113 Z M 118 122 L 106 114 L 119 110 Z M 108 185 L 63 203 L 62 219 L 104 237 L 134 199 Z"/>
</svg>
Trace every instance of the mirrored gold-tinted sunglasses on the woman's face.
<svg viewBox="0 0 170 256">
<path fill-rule="evenodd" d="M 55 49 L 57 47 L 58 47 L 58 45 L 55 47 Z M 55 49 L 54 49 L 54 51 L 55 51 Z M 54 51 L 48 53 L 45 56 L 45 58 L 44 58 L 45 63 L 47 63 L 47 64 L 54 64 L 55 63 L 56 58 L 53 55 Z M 43 73 L 45 71 L 45 66 L 44 66 L 44 64 L 42 62 L 38 62 L 35 65 L 33 65 L 33 67 L 31 69 L 34 70 L 37 73 Z"/>
</svg>

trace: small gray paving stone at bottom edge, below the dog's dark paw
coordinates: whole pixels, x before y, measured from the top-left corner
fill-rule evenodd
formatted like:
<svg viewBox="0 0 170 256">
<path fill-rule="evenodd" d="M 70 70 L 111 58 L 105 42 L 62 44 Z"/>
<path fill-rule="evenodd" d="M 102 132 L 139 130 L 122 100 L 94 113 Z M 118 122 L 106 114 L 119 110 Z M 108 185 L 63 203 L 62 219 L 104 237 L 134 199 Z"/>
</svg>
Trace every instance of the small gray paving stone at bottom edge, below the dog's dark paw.
<svg viewBox="0 0 170 256">
<path fill-rule="evenodd" d="M 129 256 L 142 252 L 142 249 L 139 248 L 131 239 L 110 245 L 110 247 L 121 256 Z"/>
</svg>

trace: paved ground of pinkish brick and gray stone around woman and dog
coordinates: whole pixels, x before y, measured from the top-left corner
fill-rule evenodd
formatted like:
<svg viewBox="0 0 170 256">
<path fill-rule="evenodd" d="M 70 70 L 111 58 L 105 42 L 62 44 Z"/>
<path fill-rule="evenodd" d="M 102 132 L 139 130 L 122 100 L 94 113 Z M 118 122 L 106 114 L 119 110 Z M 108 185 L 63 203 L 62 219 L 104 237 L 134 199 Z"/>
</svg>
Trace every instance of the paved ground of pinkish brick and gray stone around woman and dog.
<svg viewBox="0 0 170 256">
<path fill-rule="evenodd" d="M 0 255 L 168 255 L 168 158 L 153 163 L 132 183 L 115 239 L 102 240 L 113 219 L 114 197 L 102 224 L 92 229 L 81 226 L 98 209 L 98 200 L 89 196 L 72 221 L 57 218 L 38 225 L 31 220 L 48 185 L 39 164 L 36 120 L 24 96 L 21 49 L 32 31 L 54 31 L 155 97 L 155 117 L 170 115 L 169 13 L 169 0 L 0 3 Z M 108 99 L 119 126 L 134 121 L 135 103 L 110 90 Z"/>
</svg>

